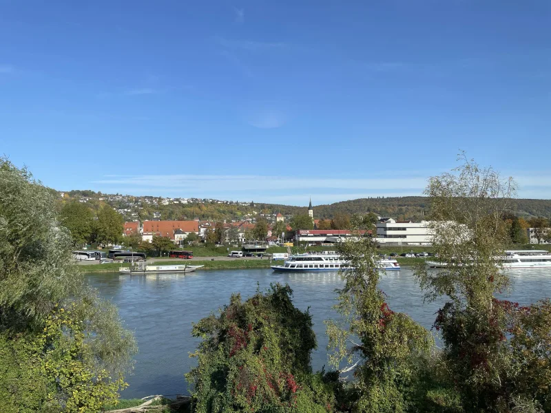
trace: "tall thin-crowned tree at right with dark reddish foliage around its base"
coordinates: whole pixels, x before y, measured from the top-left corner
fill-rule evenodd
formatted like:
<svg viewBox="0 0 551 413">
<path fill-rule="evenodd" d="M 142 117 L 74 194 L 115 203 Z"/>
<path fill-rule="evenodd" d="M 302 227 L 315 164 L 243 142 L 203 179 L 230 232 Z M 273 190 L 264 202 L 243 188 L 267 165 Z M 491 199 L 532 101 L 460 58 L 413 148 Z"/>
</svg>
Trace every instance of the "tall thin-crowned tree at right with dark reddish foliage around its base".
<svg viewBox="0 0 551 413">
<path fill-rule="evenodd" d="M 415 273 L 426 299 L 448 300 L 435 328 L 464 410 L 538 411 L 549 401 L 549 383 L 538 388 L 530 376 L 549 377 L 549 303 L 521 307 L 496 299 L 510 286 L 499 257 L 508 242 L 503 215 L 516 186 L 492 168 L 461 160 L 459 168 L 429 180 L 429 226 L 440 268 Z"/>
</svg>

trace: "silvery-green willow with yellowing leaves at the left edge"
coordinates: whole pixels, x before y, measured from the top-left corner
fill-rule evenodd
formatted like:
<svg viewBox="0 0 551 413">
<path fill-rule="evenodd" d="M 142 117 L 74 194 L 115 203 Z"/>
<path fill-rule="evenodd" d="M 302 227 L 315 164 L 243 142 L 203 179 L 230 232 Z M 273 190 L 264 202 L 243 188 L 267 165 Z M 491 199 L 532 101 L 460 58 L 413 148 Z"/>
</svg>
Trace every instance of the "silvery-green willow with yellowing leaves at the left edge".
<svg viewBox="0 0 551 413">
<path fill-rule="evenodd" d="M 0 159 L 0 410 L 98 411 L 134 351 L 116 308 L 72 264 L 50 189 Z"/>
</svg>

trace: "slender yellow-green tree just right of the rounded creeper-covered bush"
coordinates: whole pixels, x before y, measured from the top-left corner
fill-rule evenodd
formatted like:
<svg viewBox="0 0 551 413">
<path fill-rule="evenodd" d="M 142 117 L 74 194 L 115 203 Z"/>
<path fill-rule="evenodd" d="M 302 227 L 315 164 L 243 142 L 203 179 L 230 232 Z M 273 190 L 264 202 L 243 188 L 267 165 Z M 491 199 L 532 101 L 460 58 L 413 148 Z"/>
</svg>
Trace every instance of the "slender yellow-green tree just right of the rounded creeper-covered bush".
<svg viewBox="0 0 551 413">
<path fill-rule="evenodd" d="M 340 244 L 350 263 L 342 271 L 344 288 L 337 290 L 340 319 L 326 321 L 331 363 L 342 361 L 353 372 L 352 412 L 404 412 L 415 398 L 413 385 L 419 361 L 428 355 L 433 337 L 408 315 L 386 304 L 378 287 L 382 272 L 371 238 Z"/>
</svg>

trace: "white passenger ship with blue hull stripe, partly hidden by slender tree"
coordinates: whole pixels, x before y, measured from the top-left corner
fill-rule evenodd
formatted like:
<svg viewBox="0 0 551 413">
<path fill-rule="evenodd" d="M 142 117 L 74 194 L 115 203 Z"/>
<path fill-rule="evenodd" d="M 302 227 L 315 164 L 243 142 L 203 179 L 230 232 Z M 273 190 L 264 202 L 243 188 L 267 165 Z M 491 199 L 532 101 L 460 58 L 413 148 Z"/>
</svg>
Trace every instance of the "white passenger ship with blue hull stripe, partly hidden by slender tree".
<svg viewBox="0 0 551 413">
<path fill-rule="evenodd" d="M 399 270 L 400 264 L 396 260 L 377 260 L 381 270 Z M 351 269 L 337 253 L 316 253 L 291 255 L 283 265 L 271 266 L 273 271 L 339 271 Z"/>
</svg>

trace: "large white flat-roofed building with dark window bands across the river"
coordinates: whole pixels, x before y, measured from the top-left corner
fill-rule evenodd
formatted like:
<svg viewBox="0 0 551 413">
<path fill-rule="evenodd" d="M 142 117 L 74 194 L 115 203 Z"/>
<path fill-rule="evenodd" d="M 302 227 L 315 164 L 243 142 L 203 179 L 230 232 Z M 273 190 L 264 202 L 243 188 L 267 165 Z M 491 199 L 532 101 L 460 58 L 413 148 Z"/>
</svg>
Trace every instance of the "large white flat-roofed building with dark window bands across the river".
<svg viewBox="0 0 551 413">
<path fill-rule="evenodd" d="M 380 244 L 430 245 L 432 235 L 428 221 L 396 221 L 383 218 L 377 222 L 377 242 Z"/>
</svg>

